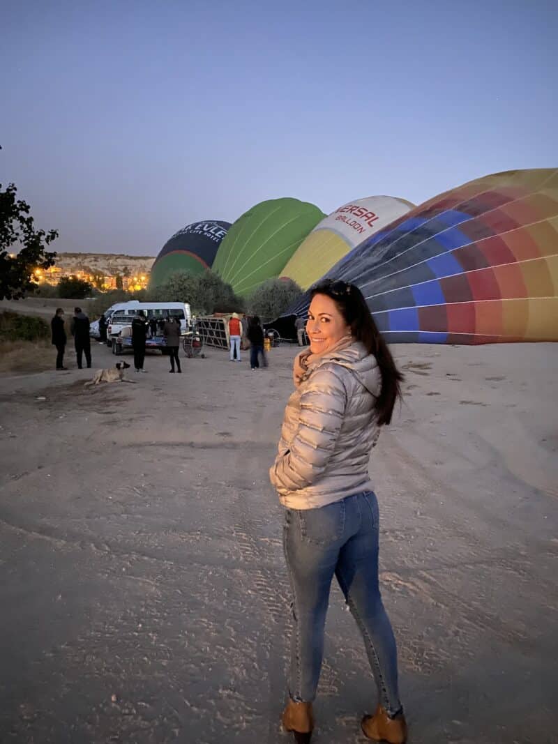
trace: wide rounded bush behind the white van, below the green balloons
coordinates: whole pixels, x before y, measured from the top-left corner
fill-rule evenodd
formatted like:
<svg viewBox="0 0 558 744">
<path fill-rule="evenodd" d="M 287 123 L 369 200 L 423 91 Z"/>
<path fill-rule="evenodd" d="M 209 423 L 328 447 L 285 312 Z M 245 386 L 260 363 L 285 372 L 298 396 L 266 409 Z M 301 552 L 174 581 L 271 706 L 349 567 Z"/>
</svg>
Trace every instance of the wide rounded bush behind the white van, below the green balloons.
<svg viewBox="0 0 558 744">
<path fill-rule="evenodd" d="M 243 300 L 210 269 L 201 274 L 173 272 L 162 284 L 150 289 L 149 296 L 155 302 L 188 302 L 196 315 L 243 311 Z"/>
</svg>

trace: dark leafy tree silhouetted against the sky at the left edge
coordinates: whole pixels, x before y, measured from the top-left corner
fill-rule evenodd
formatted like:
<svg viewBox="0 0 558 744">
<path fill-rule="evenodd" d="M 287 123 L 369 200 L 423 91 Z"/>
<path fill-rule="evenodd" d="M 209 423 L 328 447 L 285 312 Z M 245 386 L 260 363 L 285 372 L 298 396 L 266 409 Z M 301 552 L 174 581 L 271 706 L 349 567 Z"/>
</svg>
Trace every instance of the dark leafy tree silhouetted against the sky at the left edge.
<svg viewBox="0 0 558 744">
<path fill-rule="evenodd" d="M 13 184 L 5 190 L 0 184 L 0 300 L 25 297 L 36 286 L 33 272 L 53 266 L 56 257 L 46 246 L 56 240 L 58 232 L 36 230 L 30 206 L 16 199 L 16 191 Z"/>
</svg>

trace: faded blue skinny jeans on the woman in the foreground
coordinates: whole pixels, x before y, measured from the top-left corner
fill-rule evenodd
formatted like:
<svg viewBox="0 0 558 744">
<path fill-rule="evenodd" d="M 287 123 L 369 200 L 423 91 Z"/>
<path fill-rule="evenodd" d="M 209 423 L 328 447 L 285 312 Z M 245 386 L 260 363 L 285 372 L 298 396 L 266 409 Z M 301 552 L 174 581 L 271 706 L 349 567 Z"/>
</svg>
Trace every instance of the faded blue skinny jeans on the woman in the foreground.
<svg viewBox="0 0 558 744">
<path fill-rule="evenodd" d="M 315 699 L 324 655 L 324 626 L 335 574 L 364 638 L 389 716 L 401 711 L 397 647 L 378 581 L 379 512 L 372 491 L 347 496 L 318 509 L 286 509 L 283 549 L 293 596 L 289 694 Z"/>
</svg>

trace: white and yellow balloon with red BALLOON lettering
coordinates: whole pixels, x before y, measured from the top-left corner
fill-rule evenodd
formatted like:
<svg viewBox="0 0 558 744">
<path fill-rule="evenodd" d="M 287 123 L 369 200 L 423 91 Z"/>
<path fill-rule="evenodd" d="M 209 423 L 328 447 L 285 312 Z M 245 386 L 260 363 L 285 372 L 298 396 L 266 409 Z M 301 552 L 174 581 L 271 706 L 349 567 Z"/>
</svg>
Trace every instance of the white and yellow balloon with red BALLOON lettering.
<svg viewBox="0 0 558 744">
<path fill-rule="evenodd" d="M 318 222 L 281 276 L 307 289 L 359 243 L 412 208 L 414 204 L 394 196 L 367 196 L 348 202 Z"/>
</svg>

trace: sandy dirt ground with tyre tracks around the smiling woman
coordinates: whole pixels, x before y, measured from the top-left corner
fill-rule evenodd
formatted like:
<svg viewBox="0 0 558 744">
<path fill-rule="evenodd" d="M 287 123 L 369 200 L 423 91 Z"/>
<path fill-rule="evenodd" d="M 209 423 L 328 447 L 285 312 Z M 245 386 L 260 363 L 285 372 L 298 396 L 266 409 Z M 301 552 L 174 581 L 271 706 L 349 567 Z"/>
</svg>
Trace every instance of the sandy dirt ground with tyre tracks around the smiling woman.
<svg viewBox="0 0 558 744">
<path fill-rule="evenodd" d="M 394 353 L 405 403 L 371 473 L 409 743 L 557 742 L 558 344 Z M 291 740 L 267 470 L 294 355 L 0 376 L 2 743 Z M 336 587 L 312 741 L 364 743 L 375 703 Z"/>
</svg>

